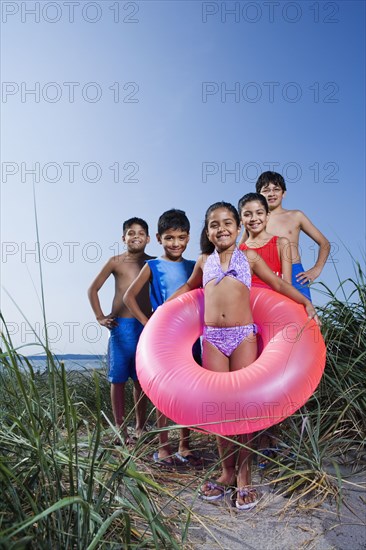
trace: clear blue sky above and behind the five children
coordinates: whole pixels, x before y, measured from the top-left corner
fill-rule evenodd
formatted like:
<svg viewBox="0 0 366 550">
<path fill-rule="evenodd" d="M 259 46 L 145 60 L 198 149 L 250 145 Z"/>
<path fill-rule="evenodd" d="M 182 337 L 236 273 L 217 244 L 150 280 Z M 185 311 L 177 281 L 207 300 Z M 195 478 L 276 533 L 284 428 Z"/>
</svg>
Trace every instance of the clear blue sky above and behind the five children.
<svg viewBox="0 0 366 550">
<path fill-rule="evenodd" d="M 1 8 L 1 309 L 15 344 L 34 337 L 8 294 L 42 335 L 33 184 L 57 353 L 105 351 L 86 290 L 122 252 L 123 220 L 145 218 L 159 255 L 158 216 L 186 210 L 194 259 L 206 208 L 237 204 L 270 168 L 286 178 L 285 207 L 310 217 L 340 278 L 353 276 L 349 252 L 362 261 L 365 238 L 363 2 Z M 310 267 L 313 243 L 301 249 Z M 321 280 L 336 289 L 334 263 Z M 112 281 L 100 296 L 107 313 Z"/>
</svg>

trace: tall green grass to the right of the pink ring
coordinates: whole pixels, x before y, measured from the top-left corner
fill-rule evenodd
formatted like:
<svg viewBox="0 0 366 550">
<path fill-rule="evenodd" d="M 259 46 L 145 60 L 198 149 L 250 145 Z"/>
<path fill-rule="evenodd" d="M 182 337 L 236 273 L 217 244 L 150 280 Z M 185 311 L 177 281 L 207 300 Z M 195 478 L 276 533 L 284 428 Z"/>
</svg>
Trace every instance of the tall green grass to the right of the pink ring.
<svg viewBox="0 0 366 550">
<path fill-rule="evenodd" d="M 285 494 L 340 502 L 346 475 L 366 467 L 366 281 L 361 265 L 353 267 L 335 292 L 316 285 L 326 298 L 318 308 L 326 366 L 315 394 L 280 427 L 287 452 L 269 461 L 269 483 Z"/>
</svg>

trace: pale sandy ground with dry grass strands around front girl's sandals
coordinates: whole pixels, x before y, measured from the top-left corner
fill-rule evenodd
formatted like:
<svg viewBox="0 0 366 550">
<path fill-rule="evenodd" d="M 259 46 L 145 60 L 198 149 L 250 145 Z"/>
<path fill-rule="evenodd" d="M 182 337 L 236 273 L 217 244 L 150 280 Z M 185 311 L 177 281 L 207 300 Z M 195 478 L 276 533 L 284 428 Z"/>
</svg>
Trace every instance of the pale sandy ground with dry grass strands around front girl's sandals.
<svg viewBox="0 0 366 550">
<path fill-rule="evenodd" d="M 150 448 L 151 449 L 151 448 Z M 147 455 L 145 455 L 147 457 Z M 284 496 L 286 484 L 274 484 L 274 472 L 253 466 L 253 485 L 261 498 L 252 510 L 238 511 L 230 496 L 217 502 L 199 498 L 198 488 L 213 465 L 213 454 L 202 469 L 164 470 L 149 467 L 149 474 L 177 500 L 157 503 L 175 521 L 177 536 L 191 508 L 185 549 L 253 550 L 364 550 L 366 548 L 366 461 L 339 466 L 341 495 L 337 499 L 319 490 Z M 211 460 L 210 460 L 211 459 Z M 146 463 L 145 463 L 146 467 Z M 331 463 L 324 468 L 329 482 L 338 484 Z M 187 507 L 187 508 L 186 508 Z"/>
</svg>

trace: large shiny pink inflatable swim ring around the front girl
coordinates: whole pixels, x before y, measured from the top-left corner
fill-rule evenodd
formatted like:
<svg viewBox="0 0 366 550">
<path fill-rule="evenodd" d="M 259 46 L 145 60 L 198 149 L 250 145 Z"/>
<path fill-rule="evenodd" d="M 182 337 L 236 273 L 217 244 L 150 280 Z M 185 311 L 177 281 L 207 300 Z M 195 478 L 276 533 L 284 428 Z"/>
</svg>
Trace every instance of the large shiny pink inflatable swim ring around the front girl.
<svg viewBox="0 0 366 550">
<path fill-rule="evenodd" d="M 315 391 L 325 345 L 305 309 L 274 291 L 252 288 L 263 350 L 236 372 L 197 365 L 192 345 L 203 325 L 203 290 L 159 307 L 143 330 L 137 375 L 153 404 L 177 424 L 215 434 L 263 430 L 298 410 Z"/>
</svg>

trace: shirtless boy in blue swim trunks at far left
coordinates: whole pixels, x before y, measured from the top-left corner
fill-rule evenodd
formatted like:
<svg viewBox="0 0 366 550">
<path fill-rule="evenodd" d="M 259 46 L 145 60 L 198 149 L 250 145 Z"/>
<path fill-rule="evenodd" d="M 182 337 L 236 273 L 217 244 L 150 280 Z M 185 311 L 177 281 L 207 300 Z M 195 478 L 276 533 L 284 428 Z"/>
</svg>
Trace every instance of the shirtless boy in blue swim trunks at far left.
<svg viewBox="0 0 366 550">
<path fill-rule="evenodd" d="M 150 241 L 147 223 L 141 218 L 130 218 L 123 224 L 123 236 L 127 250 L 123 254 L 108 260 L 88 290 L 88 296 L 95 317 L 100 325 L 110 330 L 108 342 L 108 379 L 111 382 L 112 410 L 116 427 L 124 424 L 125 384 L 129 377 L 134 383 L 134 402 L 136 411 L 136 437 L 140 437 L 146 420 L 146 397 L 136 376 L 135 353 L 142 324 L 135 319 L 123 303 L 123 295 L 132 281 L 140 273 L 147 260 L 152 256 L 145 254 Z M 100 306 L 98 292 L 110 275 L 115 279 L 115 294 L 112 311 L 104 315 Z M 145 315 L 151 314 L 149 287 L 145 285 L 139 295 L 139 307 Z M 123 428 L 125 443 L 131 443 L 126 427 Z"/>
</svg>

